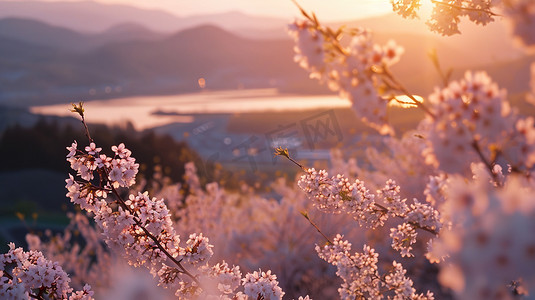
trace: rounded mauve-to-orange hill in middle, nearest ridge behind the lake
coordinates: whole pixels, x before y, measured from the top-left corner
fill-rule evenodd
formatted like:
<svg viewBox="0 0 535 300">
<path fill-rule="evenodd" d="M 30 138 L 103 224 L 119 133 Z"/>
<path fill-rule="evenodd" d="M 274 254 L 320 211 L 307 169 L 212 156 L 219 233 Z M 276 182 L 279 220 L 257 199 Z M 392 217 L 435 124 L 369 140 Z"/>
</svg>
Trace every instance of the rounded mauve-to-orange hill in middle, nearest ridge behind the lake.
<svg viewBox="0 0 535 300">
<path fill-rule="evenodd" d="M 184 30 L 157 42 L 109 44 L 88 58 L 94 63 L 108 61 L 110 72 L 116 69 L 140 78 L 181 75 L 193 79 L 195 85 L 200 77 L 208 77 L 210 84 L 211 74 L 229 80 L 243 76 L 252 81 L 255 77 L 301 73 L 291 65 L 290 40 L 250 40 L 212 25 Z"/>
</svg>

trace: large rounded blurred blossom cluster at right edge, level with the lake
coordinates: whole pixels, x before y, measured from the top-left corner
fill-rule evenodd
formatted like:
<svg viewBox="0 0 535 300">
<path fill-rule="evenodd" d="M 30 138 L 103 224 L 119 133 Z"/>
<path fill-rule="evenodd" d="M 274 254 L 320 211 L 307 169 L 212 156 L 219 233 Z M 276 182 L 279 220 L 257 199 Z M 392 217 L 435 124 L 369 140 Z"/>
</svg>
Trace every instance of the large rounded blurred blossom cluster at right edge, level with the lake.
<svg viewBox="0 0 535 300">
<path fill-rule="evenodd" d="M 426 159 L 448 173 L 470 171 L 483 156 L 489 162 L 503 156 L 512 168 L 535 163 L 533 118 L 512 111 L 505 90 L 484 72 L 467 72 L 463 79 L 429 96 L 434 115 L 428 115 Z"/>
</svg>

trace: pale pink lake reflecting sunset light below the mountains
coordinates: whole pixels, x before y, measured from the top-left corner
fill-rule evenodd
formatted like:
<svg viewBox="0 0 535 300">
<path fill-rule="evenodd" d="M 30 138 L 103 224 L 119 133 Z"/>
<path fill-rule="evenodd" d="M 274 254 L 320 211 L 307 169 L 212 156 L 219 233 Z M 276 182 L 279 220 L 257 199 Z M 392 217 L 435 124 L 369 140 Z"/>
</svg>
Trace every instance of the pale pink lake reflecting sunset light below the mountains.
<svg viewBox="0 0 535 300">
<path fill-rule="evenodd" d="M 94 100 L 84 106 L 88 122 L 122 125 L 130 121 L 136 129 L 143 130 L 170 123 L 191 123 L 196 114 L 330 109 L 351 105 L 336 95 L 280 94 L 276 89 L 257 89 Z M 34 106 L 30 111 L 72 116 L 70 108 L 70 105 L 59 104 Z"/>
</svg>

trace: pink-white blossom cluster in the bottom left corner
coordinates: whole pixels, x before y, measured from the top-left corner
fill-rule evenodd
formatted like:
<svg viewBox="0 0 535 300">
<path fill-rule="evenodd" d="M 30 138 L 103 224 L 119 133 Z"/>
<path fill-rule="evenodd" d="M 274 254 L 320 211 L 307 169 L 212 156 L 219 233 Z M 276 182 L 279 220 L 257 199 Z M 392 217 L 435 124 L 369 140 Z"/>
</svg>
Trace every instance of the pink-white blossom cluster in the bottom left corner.
<svg viewBox="0 0 535 300">
<path fill-rule="evenodd" d="M 70 278 L 58 262 L 46 259 L 39 251 L 25 252 L 9 243 L 0 255 L 0 298 L 91 300 L 93 291 L 85 285 L 73 292 Z"/>
</svg>

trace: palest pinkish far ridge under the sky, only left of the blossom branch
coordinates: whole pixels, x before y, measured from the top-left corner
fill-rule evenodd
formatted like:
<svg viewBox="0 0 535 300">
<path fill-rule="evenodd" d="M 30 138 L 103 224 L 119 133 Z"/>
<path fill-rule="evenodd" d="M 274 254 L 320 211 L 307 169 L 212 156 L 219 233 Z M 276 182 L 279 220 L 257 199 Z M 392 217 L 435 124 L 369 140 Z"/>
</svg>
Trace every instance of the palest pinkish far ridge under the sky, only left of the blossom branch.
<svg viewBox="0 0 535 300">
<path fill-rule="evenodd" d="M 206 23 L 228 30 L 280 28 L 282 31 L 287 23 L 284 19 L 240 12 L 180 17 L 163 10 L 95 1 L 0 1 L 0 18 L 6 17 L 34 19 L 85 33 L 102 32 L 123 23 L 137 23 L 167 33 Z"/>
</svg>

